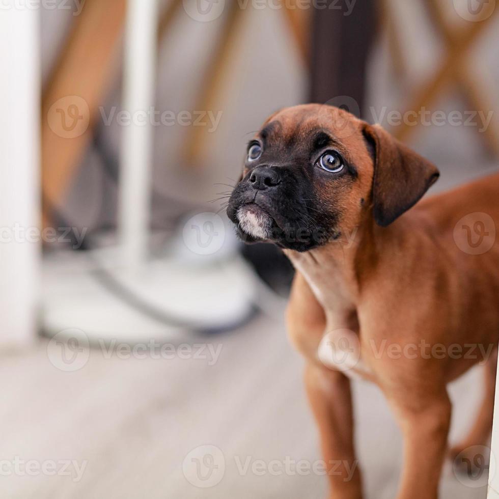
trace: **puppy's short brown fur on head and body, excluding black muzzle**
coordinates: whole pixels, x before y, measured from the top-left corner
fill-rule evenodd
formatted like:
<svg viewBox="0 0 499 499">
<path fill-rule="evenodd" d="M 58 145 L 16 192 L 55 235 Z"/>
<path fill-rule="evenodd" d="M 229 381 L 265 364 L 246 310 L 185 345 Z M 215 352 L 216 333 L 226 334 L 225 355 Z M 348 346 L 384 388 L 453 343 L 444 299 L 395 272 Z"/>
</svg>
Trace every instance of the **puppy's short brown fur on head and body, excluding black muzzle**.
<svg viewBox="0 0 499 499">
<path fill-rule="evenodd" d="M 340 137 L 342 151 L 359 171 L 355 182 L 339 191 L 320 190 L 324 203 L 342 206 L 339 240 L 303 253 L 285 250 L 296 268 L 289 337 L 307 359 L 306 386 L 324 459 L 349 463 L 342 474 L 329 477 L 330 497 L 362 497 L 359 469 L 347 480 L 356 463 L 350 381 L 317 353 L 328 331 L 348 328 L 358 337 L 363 365 L 352 371 L 381 388 L 403 433 L 398 498 L 435 499 L 451 418 L 446 385 L 483 360 L 450 358 L 448 348 L 474 343 L 495 354 L 499 337 L 499 244 L 470 255 L 457 246 L 453 231 L 461 217 L 475 212 L 487 213 L 497 226 L 499 175 L 430 197 L 401 214 L 435 180 L 430 162 L 377 126 L 335 108 L 297 106 L 269 121 L 280 123 L 283 141 L 297 129 L 306 135 L 309 128 L 324 126 Z M 386 350 L 375 355 L 383 340 L 404 347 L 422 339 L 444 345 L 443 358 L 392 358 Z M 479 419 L 452 456 L 488 441 L 494 354 L 484 368 Z"/>
</svg>

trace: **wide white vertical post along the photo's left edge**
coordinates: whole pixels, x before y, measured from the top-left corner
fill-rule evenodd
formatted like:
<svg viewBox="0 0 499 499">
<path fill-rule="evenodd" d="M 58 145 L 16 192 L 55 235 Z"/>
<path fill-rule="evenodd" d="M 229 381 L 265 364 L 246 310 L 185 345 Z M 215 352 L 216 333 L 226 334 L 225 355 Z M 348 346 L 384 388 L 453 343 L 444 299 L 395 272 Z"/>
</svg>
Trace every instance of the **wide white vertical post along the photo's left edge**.
<svg viewBox="0 0 499 499">
<path fill-rule="evenodd" d="M 40 256 L 39 11 L 0 10 L 0 345 L 33 341 Z"/>
</svg>

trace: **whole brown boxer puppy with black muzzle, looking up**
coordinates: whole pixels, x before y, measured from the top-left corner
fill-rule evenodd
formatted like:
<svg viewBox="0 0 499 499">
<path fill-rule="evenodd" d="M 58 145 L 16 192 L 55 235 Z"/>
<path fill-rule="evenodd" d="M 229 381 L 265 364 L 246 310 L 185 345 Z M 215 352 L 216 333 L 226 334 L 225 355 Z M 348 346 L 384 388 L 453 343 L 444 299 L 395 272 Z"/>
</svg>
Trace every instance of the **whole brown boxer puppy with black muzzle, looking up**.
<svg viewBox="0 0 499 499">
<path fill-rule="evenodd" d="M 487 358 L 479 419 L 453 455 L 489 436 L 499 175 L 409 210 L 437 177 L 380 126 L 302 105 L 265 122 L 229 202 L 244 240 L 278 244 L 296 268 L 289 335 L 308 361 L 324 459 L 344 463 L 329 477 L 335 499 L 362 496 L 358 468 L 349 476 L 351 375 L 380 386 L 401 427 L 400 499 L 437 497 L 451 418 L 446 385 Z"/>
</svg>

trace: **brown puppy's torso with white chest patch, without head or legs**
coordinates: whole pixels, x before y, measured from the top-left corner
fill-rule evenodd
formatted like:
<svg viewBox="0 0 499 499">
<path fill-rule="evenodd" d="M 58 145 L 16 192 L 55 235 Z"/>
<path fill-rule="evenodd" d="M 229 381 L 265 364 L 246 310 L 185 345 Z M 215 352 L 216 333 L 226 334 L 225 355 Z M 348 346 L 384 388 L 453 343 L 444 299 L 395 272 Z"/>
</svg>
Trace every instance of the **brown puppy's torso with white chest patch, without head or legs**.
<svg viewBox="0 0 499 499">
<path fill-rule="evenodd" d="M 343 345 L 345 355 L 362 362 L 345 370 L 340 356 L 336 367 L 372 380 L 382 376 L 377 361 L 383 354 L 391 355 L 386 348 L 382 352 L 386 340 L 402 349 L 419 346 L 422 340 L 445 345 L 448 351 L 453 344 L 462 346 L 455 348 L 455 356 L 460 350 L 463 358 L 436 353 L 445 382 L 483 361 L 483 353 L 490 354 L 499 338 L 499 245 L 469 255 L 456 244 L 455 227 L 470 213 L 486 213 L 499 224 L 497 193 L 499 174 L 425 199 L 389 227 L 368 219 L 358 227 L 353 244 L 351 238 L 342 237 L 306 253 L 285 250 L 300 274 L 294 287 L 309 287 L 324 313 L 324 330 L 317 338 L 307 334 L 307 328 L 294 327 L 299 319 L 293 313 L 293 293 L 288 309 L 288 316 L 293 316 L 288 320 L 293 343 L 311 361 L 324 364 L 319 356 L 324 334 L 352 330 L 358 335 L 361 355 L 348 341 Z M 347 336 L 342 331 L 340 338 L 348 340 Z M 476 345 L 475 354 L 465 354 L 465 344 Z M 403 359 L 395 360 L 406 369 Z"/>
</svg>

